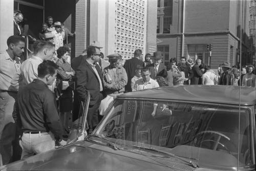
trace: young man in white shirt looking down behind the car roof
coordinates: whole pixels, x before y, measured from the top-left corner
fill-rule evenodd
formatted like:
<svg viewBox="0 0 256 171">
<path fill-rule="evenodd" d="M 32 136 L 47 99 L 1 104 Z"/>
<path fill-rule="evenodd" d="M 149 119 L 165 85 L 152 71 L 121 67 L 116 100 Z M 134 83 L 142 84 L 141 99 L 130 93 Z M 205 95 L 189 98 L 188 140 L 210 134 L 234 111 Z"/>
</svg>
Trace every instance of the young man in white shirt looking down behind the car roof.
<svg viewBox="0 0 256 171">
<path fill-rule="evenodd" d="M 135 82 L 133 91 L 159 87 L 159 84 L 155 80 L 150 78 L 150 75 L 151 73 L 148 67 L 142 68 L 141 70 L 142 79 L 139 79 Z"/>
</svg>

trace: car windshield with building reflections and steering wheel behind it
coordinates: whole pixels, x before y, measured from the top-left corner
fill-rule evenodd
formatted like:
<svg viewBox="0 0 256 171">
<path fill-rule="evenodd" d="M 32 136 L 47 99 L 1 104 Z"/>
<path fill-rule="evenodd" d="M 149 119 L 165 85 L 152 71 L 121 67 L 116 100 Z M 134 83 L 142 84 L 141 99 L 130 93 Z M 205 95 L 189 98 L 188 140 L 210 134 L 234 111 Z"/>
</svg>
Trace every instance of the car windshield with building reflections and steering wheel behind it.
<svg viewBox="0 0 256 171">
<path fill-rule="evenodd" d="M 241 108 L 239 115 L 238 106 L 119 99 L 94 133 L 142 150 L 173 153 L 201 167 L 237 167 L 238 160 L 244 167 L 253 163 L 252 109 Z"/>
</svg>

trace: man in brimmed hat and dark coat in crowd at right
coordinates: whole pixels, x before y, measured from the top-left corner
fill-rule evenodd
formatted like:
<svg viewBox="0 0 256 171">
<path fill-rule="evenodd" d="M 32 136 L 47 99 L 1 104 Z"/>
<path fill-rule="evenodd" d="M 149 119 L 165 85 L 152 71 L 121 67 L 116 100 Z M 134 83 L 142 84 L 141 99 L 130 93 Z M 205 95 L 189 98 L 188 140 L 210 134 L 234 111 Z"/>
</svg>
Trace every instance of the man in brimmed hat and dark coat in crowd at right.
<svg viewBox="0 0 256 171">
<path fill-rule="evenodd" d="M 229 62 L 224 62 L 223 65 L 221 65 L 221 68 L 223 70 L 223 73 L 221 74 L 221 77 L 219 79 L 219 85 L 233 85 L 234 83 L 234 75 L 231 71 L 231 66 Z"/>
</svg>

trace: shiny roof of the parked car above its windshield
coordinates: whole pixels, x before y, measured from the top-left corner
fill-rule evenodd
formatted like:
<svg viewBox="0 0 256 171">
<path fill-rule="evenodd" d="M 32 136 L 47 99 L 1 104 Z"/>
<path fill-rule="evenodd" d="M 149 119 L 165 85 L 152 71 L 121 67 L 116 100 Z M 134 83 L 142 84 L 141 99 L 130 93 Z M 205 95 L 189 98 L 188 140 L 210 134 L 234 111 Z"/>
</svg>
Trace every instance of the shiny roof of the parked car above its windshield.
<svg viewBox="0 0 256 171">
<path fill-rule="evenodd" d="M 223 85 L 184 85 L 165 86 L 154 89 L 128 92 L 119 95 L 118 99 L 152 99 L 207 102 L 220 104 L 239 104 L 240 86 Z M 241 87 L 241 105 L 256 104 L 256 88 Z"/>
</svg>

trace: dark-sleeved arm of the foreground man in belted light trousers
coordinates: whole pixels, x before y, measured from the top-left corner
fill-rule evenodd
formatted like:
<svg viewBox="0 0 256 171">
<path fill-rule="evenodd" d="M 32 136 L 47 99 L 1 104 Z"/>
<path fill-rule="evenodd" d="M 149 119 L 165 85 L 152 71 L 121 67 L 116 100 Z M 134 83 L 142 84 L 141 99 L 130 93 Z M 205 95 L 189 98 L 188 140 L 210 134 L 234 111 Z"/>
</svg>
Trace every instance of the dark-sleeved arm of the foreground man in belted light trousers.
<svg viewBox="0 0 256 171">
<path fill-rule="evenodd" d="M 55 106 L 54 95 L 51 91 L 46 91 L 44 99 L 41 99 L 43 102 L 42 109 L 46 117 L 46 124 L 50 131 L 54 134 L 54 137 L 57 141 L 62 140 L 62 126 L 60 124 L 58 111 Z"/>
</svg>

